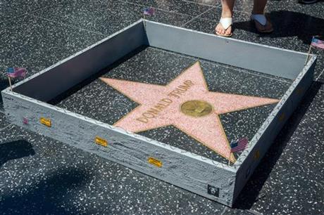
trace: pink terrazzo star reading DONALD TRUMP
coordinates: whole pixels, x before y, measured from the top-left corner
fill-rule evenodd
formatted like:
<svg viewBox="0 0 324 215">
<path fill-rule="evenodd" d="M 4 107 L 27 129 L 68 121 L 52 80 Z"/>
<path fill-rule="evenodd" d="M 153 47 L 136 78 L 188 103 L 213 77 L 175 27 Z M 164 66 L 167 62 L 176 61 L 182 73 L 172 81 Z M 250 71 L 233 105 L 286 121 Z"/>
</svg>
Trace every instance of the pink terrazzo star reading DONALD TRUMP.
<svg viewBox="0 0 324 215">
<path fill-rule="evenodd" d="M 104 77 L 101 80 L 139 103 L 114 126 L 138 133 L 173 125 L 231 162 L 235 162 L 235 157 L 230 153 L 228 138 L 218 115 L 279 101 L 208 91 L 199 62 L 194 63 L 166 86 Z M 204 101 L 211 105 L 213 110 L 201 117 L 186 115 L 180 107 L 190 100 Z"/>
</svg>

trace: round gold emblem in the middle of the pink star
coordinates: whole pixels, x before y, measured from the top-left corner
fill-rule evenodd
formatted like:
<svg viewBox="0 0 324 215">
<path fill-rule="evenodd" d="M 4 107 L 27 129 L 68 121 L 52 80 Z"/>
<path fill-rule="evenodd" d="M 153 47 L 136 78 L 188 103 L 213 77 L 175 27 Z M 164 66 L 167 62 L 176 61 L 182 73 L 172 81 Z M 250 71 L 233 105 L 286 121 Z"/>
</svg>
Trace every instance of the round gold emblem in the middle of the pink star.
<svg viewBox="0 0 324 215">
<path fill-rule="evenodd" d="M 213 111 L 213 107 L 204 100 L 188 100 L 182 103 L 181 112 L 192 117 L 204 117 Z"/>
</svg>

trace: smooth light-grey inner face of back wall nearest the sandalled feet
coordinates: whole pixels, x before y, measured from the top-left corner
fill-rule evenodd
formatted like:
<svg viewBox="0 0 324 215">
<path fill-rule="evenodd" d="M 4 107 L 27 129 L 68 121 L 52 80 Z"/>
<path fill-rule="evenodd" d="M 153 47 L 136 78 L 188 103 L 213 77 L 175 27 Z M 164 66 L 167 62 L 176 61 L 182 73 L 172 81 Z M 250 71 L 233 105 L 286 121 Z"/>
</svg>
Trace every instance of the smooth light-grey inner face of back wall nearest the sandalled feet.
<svg viewBox="0 0 324 215">
<path fill-rule="evenodd" d="M 179 27 L 146 22 L 149 45 L 247 70 L 295 79 L 304 68 L 305 53 L 217 37 Z"/>
</svg>

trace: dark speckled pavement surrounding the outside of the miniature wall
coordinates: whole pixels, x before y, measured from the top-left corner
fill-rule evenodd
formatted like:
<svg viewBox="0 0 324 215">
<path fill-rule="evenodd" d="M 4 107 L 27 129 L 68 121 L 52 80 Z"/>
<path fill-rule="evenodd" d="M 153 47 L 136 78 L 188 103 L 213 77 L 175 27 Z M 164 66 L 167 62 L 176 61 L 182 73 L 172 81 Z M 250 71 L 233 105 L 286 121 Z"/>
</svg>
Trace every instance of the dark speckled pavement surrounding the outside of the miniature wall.
<svg viewBox="0 0 324 215">
<path fill-rule="evenodd" d="M 28 75 L 38 72 L 134 22 L 144 6 L 157 7 L 151 20 L 204 32 L 213 32 L 220 17 L 218 0 L 91 2 L 0 1 L 0 70 L 16 65 L 28 67 Z M 269 1 L 275 32 L 261 36 L 249 23 L 250 2 L 237 1 L 234 38 L 306 52 L 311 35 L 323 34 L 324 1 Z M 10 125 L 1 110 L 1 213 L 323 214 L 324 51 L 313 53 L 319 58 L 311 90 L 235 209 Z M 2 72 L 0 88 L 6 86 Z"/>
</svg>

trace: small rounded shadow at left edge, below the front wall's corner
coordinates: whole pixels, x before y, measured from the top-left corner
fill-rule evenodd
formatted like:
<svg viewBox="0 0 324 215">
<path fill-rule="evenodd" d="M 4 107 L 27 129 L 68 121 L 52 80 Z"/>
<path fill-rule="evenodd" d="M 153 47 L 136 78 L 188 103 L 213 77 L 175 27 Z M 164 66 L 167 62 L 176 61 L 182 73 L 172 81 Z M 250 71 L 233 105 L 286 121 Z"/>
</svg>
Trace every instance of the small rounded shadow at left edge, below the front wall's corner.
<svg viewBox="0 0 324 215">
<path fill-rule="evenodd" d="M 35 155 L 32 144 L 25 140 L 12 141 L 0 144 L 0 167 L 11 159 L 20 159 Z"/>
</svg>

